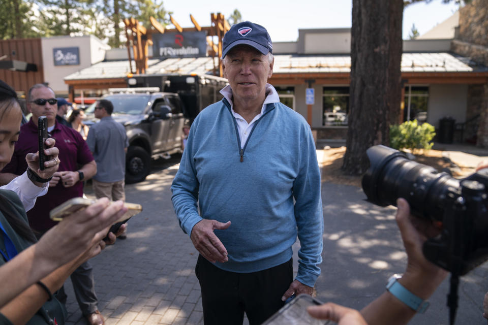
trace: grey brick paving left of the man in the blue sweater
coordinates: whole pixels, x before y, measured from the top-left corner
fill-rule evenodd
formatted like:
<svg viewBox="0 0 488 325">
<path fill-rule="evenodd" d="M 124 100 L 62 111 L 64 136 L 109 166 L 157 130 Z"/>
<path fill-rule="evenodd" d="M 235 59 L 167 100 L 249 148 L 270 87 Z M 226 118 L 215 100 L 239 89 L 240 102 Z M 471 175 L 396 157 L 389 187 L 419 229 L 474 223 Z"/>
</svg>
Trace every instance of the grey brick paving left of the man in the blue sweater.
<svg viewBox="0 0 488 325">
<path fill-rule="evenodd" d="M 194 272 L 197 253 L 171 205 L 169 185 L 175 173 L 167 169 L 127 185 L 127 201 L 142 204 L 143 212 L 130 220 L 126 240 L 90 261 L 107 325 L 203 323 Z M 90 196 L 89 186 L 85 192 Z M 66 290 L 68 324 L 85 324 L 70 280 Z"/>
</svg>

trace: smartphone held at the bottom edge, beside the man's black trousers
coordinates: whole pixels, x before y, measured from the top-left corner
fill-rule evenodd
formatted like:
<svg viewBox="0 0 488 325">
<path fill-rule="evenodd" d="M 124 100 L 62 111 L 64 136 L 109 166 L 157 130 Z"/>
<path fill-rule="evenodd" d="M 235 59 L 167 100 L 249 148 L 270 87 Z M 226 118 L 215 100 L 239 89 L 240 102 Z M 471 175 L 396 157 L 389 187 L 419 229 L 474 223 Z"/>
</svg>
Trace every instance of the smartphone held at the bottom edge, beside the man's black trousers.
<svg viewBox="0 0 488 325">
<path fill-rule="evenodd" d="M 322 302 L 306 294 L 298 295 L 262 325 L 330 324 L 328 320 L 315 319 L 307 312 L 307 307 L 316 305 L 322 305 Z"/>
</svg>

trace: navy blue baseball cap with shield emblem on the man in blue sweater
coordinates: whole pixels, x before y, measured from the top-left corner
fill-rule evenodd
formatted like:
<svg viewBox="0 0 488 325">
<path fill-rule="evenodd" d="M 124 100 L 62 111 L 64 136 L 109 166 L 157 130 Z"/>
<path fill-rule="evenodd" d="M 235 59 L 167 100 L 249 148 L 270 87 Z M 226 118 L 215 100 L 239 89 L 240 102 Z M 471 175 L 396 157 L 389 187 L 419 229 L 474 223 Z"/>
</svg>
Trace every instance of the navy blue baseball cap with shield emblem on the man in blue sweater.
<svg viewBox="0 0 488 325">
<path fill-rule="evenodd" d="M 273 53 L 273 44 L 266 28 L 250 21 L 232 25 L 225 33 L 222 40 L 222 58 L 230 49 L 239 44 L 250 45 L 264 55 L 269 52 Z"/>
</svg>

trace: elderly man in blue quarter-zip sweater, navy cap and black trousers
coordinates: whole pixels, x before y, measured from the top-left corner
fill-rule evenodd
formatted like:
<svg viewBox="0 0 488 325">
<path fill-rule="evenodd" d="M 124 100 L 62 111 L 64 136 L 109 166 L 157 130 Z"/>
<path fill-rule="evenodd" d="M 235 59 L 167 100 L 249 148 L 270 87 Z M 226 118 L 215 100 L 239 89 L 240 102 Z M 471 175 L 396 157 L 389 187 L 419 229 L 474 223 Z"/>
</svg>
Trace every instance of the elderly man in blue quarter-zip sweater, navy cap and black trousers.
<svg viewBox="0 0 488 325">
<path fill-rule="evenodd" d="M 233 25 L 222 58 L 230 85 L 193 122 L 172 201 L 200 252 L 205 324 L 242 324 L 244 312 L 260 324 L 292 294 L 311 295 L 320 275 L 320 172 L 310 126 L 267 83 L 274 58 L 266 29 Z"/>
</svg>

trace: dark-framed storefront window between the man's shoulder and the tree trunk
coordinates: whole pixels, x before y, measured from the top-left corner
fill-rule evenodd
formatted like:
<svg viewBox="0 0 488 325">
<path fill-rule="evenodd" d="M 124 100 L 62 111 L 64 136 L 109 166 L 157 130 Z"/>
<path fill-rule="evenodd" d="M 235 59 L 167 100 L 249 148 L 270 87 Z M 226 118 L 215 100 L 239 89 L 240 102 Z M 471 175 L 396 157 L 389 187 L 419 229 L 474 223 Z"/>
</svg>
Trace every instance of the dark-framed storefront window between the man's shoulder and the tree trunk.
<svg viewBox="0 0 488 325">
<path fill-rule="evenodd" d="M 349 87 L 324 87 L 322 125 L 347 125 Z"/>
</svg>

